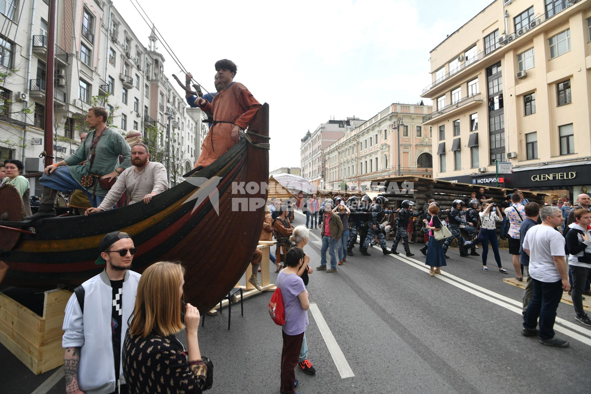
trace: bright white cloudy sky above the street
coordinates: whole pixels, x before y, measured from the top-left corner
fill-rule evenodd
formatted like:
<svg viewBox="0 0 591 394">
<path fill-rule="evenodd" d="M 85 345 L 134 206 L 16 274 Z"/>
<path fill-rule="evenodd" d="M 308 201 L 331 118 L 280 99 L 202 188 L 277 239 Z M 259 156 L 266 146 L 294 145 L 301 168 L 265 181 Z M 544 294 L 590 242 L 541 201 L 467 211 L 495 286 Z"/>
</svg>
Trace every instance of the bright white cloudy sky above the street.
<svg viewBox="0 0 591 394">
<path fill-rule="evenodd" d="M 150 27 L 113 0 L 148 46 Z M 269 170 L 300 167 L 300 140 L 329 119 L 370 119 L 389 104 L 417 103 L 431 82 L 429 51 L 492 0 L 141 0 L 171 50 L 210 92 L 214 64 L 269 103 Z M 139 7 L 138 7 L 139 8 Z M 169 79 L 179 73 L 163 43 Z M 454 54 L 450 54 L 453 56 Z M 430 100 L 424 100 L 430 105 Z"/>
</svg>

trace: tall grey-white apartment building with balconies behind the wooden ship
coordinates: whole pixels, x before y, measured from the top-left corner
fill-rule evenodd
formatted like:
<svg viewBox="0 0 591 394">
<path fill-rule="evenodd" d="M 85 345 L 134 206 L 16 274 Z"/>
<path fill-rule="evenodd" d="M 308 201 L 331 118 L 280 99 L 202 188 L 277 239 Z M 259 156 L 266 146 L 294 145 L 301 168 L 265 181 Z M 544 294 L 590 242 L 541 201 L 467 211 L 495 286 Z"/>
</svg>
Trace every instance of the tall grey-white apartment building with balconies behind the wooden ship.
<svg viewBox="0 0 591 394">
<path fill-rule="evenodd" d="M 43 151 L 47 111 L 48 5 L 46 0 L 35 1 L 34 7 L 31 1 L 5 3 L 0 5 L 0 22 L 5 26 L 0 32 L 0 158 L 21 159 L 26 172 L 37 172 L 43 168 L 38 156 Z M 155 48 L 152 37 L 150 43 Z M 156 83 L 161 91 L 152 89 L 153 74 L 148 67 L 157 57 L 161 60 Z M 109 123 L 122 133 L 135 129 L 145 136 L 150 129 L 165 135 L 168 117 L 146 110 L 160 103 L 164 92 L 171 137 L 183 167 L 191 168 L 199 156 L 204 115 L 199 109 L 187 111 L 184 97 L 164 77 L 163 61 L 161 54 L 156 56 L 154 50 L 145 48 L 111 1 L 58 0 L 53 108 L 56 161 L 76 150 L 80 134 L 87 131 L 84 119 L 92 105 L 106 106 Z M 34 182 L 31 188 L 31 194 L 40 194 Z"/>
</svg>

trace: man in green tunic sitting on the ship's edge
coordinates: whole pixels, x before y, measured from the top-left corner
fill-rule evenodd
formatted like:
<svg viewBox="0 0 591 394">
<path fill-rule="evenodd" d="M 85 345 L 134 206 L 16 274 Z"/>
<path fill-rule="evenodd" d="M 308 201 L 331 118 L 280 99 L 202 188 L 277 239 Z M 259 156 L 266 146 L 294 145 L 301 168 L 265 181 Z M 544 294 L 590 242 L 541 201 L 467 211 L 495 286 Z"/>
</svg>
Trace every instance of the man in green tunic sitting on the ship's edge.
<svg viewBox="0 0 591 394">
<path fill-rule="evenodd" d="M 108 183 L 121 175 L 125 168 L 131 167 L 131 149 L 121 133 L 106 126 L 107 116 L 103 107 L 88 110 L 86 123 L 94 130 L 72 156 L 45 168 L 45 174 L 39 180 L 43 185 L 41 207 L 27 220 L 56 216 L 53 206 L 57 190 L 85 191 L 92 206 L 98 207 L 110 188 Z M 119 164 L 119 155 L 124 158 L 122 164 Z M 79 165 L 82 161 L 86 164 Z"/>
</svg>

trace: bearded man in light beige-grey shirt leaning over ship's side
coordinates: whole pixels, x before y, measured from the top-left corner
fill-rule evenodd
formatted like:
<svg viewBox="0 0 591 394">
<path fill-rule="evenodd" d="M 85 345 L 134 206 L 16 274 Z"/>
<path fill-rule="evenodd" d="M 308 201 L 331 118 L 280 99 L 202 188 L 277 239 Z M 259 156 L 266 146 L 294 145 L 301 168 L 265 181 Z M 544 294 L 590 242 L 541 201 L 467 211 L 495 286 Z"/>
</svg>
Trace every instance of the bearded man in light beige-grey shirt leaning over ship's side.
<svg viewBox="0 0 591 394">
<path fill-rule="evenodd" d="M 168 181 L 164 165 L 150 161 L 148 146 L 141 142 L 131 148 L 131 164 L 126 168 L 105 196 L 105 199 L 96 208 L 89 208 L 85 215 L 112 209 L 122 194 L 129 196 L 129 203 L 138 201 L 150 203 L 152 197 L 168 190 Z"/>
</svg>

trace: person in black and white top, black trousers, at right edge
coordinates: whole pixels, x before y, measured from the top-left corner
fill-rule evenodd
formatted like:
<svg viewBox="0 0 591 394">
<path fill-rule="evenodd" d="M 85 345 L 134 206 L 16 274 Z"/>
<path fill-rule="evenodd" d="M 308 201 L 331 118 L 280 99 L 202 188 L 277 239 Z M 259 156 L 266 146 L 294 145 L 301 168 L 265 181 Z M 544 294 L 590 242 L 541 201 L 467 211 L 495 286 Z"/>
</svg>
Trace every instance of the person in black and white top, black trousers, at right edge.
<svg viewBox="0 0 591 394">
<path fill-rule="evenodd" d="M 573 278 L 571 297 L 576 320 L 591 326 L 591 319 L 583 310 L 583 291 L 591 268 L 591 212 L 586 209 L 574 211 L 575 222 L 566 232 L 566 249 L 569 252 L 569 269 Z"/>
</svg>

